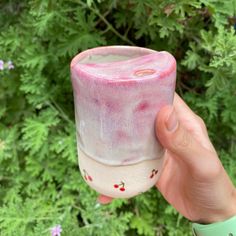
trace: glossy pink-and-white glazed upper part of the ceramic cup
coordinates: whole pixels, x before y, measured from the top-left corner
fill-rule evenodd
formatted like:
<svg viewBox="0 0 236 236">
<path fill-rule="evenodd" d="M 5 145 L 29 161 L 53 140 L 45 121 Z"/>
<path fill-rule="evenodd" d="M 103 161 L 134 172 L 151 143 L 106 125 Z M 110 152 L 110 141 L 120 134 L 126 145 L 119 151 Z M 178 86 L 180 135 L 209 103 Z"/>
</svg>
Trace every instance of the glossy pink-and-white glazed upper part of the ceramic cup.
<svg viewBox="0 0 236 236">
<path fill-rule="evenodd" d="M 94 54 L 132 58 L 80 63 Z M 77 55 L 71 71 L 77 130 L 85 153 L 108 165 L 162 155 L 154 124 L 160 108 L 173 101 L 176 61 L 171 54 L 138 47 L 99 47 Z M 82 146 L 79 139 L 78 144 Z"/>
</svg>

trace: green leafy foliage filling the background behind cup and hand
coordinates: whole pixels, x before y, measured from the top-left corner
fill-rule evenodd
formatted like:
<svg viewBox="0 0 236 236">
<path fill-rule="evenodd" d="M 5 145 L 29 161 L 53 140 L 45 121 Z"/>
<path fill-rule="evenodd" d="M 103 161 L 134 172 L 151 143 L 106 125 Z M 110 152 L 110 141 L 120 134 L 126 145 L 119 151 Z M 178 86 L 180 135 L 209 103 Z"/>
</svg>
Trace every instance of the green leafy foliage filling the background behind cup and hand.
<svg viewBox="0 0 236 236">
<path fill-rule="evenodd" d="M 101 45 L 171 52 L 177 91 L 205 120 L 236 183 L 236 1 L 3 0 L 0 235 L 182 236 L 190 223 L 155 189 L 109 206 L 79 173 L 69 64 Z"/>
</svg>

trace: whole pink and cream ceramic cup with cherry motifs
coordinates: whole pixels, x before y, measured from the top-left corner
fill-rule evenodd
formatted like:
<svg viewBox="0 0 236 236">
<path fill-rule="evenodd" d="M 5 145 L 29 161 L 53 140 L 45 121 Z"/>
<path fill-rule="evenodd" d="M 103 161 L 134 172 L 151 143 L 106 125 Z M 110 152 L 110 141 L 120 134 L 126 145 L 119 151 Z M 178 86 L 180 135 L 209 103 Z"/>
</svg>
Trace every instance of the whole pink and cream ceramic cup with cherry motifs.
<svg viewBox="0 0 236 236">
<path fill-rule="evenodd" d="M 131 46 L 89 49 L 73 58 L 71 80 L 84 180 L 113 198 L 147 191 L 162 167 L 155 119 L 173 102 L 174 57 Z"/>
</svg>

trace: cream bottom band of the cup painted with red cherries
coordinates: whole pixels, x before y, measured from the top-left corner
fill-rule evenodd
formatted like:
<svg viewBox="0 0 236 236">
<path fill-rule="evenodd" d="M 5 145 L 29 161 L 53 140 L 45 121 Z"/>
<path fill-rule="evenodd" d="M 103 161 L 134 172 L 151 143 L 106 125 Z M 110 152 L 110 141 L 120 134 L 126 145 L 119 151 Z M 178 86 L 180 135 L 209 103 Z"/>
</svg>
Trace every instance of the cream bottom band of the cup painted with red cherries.
<svg viewBox="0 0 236 236">
<path fill-rule="evenodd" d="M 79 152 L 79 167 L 87 184 L 112 198 L 131 198 L 153 187 L 160 175 L 163 158 L 134 165 L 108 166 Z"/>
</svg>

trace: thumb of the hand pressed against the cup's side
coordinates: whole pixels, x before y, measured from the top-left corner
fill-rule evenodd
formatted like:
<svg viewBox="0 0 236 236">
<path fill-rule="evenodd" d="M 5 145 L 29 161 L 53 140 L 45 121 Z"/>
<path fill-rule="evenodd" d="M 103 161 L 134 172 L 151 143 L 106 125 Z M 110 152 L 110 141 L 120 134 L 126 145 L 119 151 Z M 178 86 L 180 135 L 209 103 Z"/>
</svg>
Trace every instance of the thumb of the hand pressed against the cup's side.
<svg viewBox="0 0 236 236">
<path fill-rule="evenodd" d="M 195 122 L 194 119 L 191 122 Z M 158 114 L 156 135 L 161 144 L 174 154 L 173 156 L 181 158 L 189 167 L 196 170 L 198 167 L 202 168 L 202 165 L 206 163 L 206 157 L 213 154 L 196 140 L 195 125 L 192 124 L 192 127 L 188 128 L 186 122 L 178 119 L 173 106 L 166 106 Z"/>
</svg>

